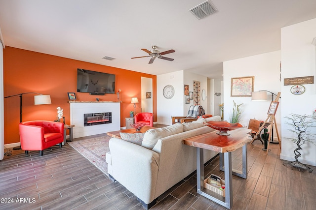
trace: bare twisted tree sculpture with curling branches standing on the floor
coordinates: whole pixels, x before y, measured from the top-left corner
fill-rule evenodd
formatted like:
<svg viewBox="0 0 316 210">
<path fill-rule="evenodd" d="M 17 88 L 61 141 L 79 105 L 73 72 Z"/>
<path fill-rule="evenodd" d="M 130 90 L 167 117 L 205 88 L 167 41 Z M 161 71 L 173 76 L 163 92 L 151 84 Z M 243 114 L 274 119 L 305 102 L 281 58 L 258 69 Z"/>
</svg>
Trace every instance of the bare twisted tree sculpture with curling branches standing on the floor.
<svg viewBox="0 0 316 210">
<path fill-rule="evenodd" d="M 290 117 L 285 117 L 286 119 L 290 120 L 291 122 L 285 122 L 288 125 L 291 125 L 294 129 L 288 129 L 295 135 L 296 137 L 293 138 L 286 138 L 290 139 L 291 142 L 296 143 L 297 148 L 294 150 L 295 154 L 295 161 L 290 162 L 293 167 L 303 170 L 309 170 L 312 172 L 313 170 L 308 167 L 307 165 L 301 163 L 298 158 L 301 156 L 299 150 L 303 150 L 301 148 L 302 145 L 306 144 L 307 142 L 316 145 L 316 134 L 312 134 L 309 131 L 309 128 L 316 127 L 314 123 L 316 122 L 312 115 L 297 115 L 297 114 L 290 114 Z"/>
</svg>

